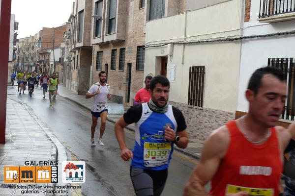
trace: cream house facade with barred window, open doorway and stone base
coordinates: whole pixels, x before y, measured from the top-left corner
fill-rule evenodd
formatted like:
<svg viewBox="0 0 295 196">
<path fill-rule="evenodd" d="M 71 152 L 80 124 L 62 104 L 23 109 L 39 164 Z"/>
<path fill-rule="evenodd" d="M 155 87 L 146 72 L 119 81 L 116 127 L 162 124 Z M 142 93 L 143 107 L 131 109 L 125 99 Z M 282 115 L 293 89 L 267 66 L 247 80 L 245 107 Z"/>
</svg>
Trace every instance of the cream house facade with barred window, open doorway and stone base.
<svg viewBox="0 0 295 196">
<path fill-rule="evenodd" d="M 184 114 L 189 136 L 205 140 L 235 118 L 241 42 L 226 37 L 241 35 L 242 5 L 187 0 L 193 9 L 147 22 L 145 75 L 167 76 L 170 104 Z"/>
</svg>

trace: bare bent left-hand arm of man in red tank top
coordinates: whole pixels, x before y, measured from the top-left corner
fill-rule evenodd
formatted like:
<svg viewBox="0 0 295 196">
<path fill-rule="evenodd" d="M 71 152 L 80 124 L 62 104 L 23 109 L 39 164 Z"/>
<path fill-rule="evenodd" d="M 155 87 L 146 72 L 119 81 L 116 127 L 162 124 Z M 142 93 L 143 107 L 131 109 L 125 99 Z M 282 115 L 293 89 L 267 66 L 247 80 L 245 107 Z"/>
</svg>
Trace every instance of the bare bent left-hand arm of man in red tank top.
<svg viewBox="0 0 295 196">
<path fill-rule="evenodd" d="M 208 196 L 204 186 L 217 172 L 221 160 L 225 157 L 230 144 L 230 135 L 226 126 L 215 130 L 204 144 L 200 162 L 190 176 L 184 188 L 183 196 Z"/>
</svg>

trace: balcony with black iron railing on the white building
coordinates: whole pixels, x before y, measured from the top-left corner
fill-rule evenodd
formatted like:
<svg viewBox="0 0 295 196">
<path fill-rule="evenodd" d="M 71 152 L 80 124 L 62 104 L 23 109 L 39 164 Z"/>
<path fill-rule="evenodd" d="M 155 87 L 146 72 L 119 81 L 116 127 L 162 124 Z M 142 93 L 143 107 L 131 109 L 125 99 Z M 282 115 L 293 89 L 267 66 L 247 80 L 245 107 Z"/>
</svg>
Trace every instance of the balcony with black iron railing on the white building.
<svg viewBox="0 0 295 196">
<path fill-rule="evenodd" d="M 295 0 L 260 0 L 260 23 L 295 20 Z"/>
</svg>

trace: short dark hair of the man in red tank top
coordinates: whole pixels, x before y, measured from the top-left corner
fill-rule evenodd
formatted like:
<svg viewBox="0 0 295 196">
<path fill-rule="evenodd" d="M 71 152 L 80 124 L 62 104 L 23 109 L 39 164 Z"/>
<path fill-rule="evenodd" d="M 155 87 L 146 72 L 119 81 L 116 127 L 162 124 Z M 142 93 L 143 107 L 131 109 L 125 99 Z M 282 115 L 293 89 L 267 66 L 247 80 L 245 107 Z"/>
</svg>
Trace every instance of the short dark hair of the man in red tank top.
<svg viewBox="0 0 295 196">
<path fill-rule="evenodd" d="M 249 83 L 248 83 L 248 89 L 252 90 L 255 96 L 258 94 L 258 91 L 261 87 L 261 80 L 265 74 L 272 74 L 273 76 L 275 76 L 282 82 L 287 80 L 286 75 L 277 68 L 263 67 L 263 68 L 257 69 L 251 75 Z"/>
</svg>

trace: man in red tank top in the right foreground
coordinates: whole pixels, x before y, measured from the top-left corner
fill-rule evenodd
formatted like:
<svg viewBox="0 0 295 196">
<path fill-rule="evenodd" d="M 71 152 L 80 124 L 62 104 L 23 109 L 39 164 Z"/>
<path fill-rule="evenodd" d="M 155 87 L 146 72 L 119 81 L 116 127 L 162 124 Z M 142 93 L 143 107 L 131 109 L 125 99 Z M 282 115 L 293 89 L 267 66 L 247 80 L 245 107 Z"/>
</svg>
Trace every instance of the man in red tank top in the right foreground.
<svg viewBox="0 0 295 196">
<path fill-rule="evenodd" d="M 248 113 L 216 129 L 183 196 L 278 196 L 283 152 L 292 134 L 276 126 L 287 97 L 286 76 L 271 67 L 256 70 L 245 97 Z M 210 193 L 204 186 L 211 180 Z"/>
</svg>

